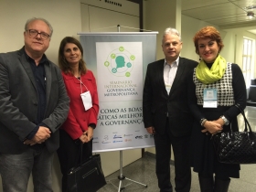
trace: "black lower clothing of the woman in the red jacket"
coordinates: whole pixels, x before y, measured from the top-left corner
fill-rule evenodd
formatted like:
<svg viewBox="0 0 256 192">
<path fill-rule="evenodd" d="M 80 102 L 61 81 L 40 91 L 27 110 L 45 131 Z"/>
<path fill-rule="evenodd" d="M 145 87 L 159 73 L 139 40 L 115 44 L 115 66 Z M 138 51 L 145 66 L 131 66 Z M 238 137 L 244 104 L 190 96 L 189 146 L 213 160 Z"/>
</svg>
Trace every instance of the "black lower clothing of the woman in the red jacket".
<svg viewBox="0 0 256 192">
<path fill-rule="evenodd" d="M 83 144 L 82 159 L 86 160 L 92 155 L 92 140 Z M 80 141 L 74 141 L 64 130 L 59 130 L 59 156 L 60 170 L 62 173 L 62 192 L 68 192 L 67 174 L 70 168 L 80 163 Z"/>
</svg>

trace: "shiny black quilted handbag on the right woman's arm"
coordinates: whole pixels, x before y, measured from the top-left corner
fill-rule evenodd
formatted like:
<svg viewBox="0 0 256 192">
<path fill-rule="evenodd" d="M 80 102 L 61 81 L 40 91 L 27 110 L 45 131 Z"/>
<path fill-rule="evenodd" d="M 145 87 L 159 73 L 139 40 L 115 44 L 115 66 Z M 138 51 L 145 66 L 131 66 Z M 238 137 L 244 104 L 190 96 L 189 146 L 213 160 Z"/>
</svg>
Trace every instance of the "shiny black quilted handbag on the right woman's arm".
<svg viewBox="0 0 256 192">
<path fill-rule="evenodd" d="M 235 106 L 243 116 L 245 129 L 243 132 L 233 132 L 230 124 L 229 132 L 217 133 L 212 136 L 218 160 L 225 164 L 255 164 L 256 133 L 251 131 L 251 125 L 240 105 L 236 104 Z"/>
</svg>

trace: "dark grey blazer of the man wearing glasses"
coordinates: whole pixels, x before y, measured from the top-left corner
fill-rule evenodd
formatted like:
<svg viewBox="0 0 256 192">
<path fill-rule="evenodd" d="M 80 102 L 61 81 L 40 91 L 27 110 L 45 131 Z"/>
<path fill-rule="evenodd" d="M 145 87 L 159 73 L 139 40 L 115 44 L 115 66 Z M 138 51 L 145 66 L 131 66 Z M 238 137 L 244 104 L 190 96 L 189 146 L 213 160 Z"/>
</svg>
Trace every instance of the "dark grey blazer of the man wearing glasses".
<svg viewBox="0 0 256 192">
<path fill-rule="evenodd" d="M 48 61 L 45 123 L 51 131 L 48 151 L 59 147 L 59 127 L 69 112 L 69 97 L 59 67 Z M 0 153 L 21 154 L 27 135 L 37 126 L 37 85 L 24 48 L 0 54 Z"/>
</svg>

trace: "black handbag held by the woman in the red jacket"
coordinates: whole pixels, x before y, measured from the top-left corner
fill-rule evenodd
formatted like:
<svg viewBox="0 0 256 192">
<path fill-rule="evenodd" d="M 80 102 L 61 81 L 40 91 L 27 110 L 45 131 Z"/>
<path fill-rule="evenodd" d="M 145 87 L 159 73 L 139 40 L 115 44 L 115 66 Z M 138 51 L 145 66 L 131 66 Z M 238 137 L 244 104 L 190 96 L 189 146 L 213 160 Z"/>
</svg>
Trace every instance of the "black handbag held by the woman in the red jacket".
<svg viewBox="0 0 256 192">
<path fill-rule="evenodd" d="M 69 192 L 96 192 L 106 185 L 105 176 L 101 168 L 101 155 L 91 155 L 84 163 L 82 162 L 82 144 L 80 145 L 80 164 L 69 170 Z"/>
</svg>

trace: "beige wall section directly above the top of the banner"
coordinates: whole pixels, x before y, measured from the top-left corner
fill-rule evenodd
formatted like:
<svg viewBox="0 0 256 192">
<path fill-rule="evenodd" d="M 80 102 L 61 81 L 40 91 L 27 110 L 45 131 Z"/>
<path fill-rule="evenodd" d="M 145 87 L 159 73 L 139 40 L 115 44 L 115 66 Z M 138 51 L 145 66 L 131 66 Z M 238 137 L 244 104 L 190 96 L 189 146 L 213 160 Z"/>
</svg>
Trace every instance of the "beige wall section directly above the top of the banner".
<svg viewBox="0 0 256 192">
<path fill-rule="evenodd" d="M 122 6 L 105 1 L 81 0 L 81 29 L 83 32 L 138 32 L 139 5 L 129 1 L 115 0 Z M 102 8 L 104 7 L 104 8 Z"/>
</svg>

